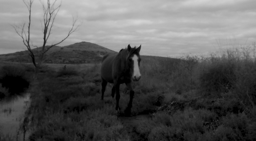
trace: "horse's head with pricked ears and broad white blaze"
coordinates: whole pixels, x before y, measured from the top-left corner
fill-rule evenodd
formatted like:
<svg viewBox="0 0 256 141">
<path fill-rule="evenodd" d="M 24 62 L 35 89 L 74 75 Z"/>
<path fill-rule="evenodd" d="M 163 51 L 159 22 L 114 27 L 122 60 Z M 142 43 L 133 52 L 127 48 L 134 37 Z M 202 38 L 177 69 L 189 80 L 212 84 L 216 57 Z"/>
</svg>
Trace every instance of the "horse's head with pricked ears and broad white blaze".
<svg viewBox="0 0 256 141">
<path fill-rule="evenodd" d="M 138 48 L 132 48 L 129 44 L 127 50 L 128 54 L 126 56 L 126 63 L 127 67 L 130 68 L 129 70 L 132 76 L 132 80 L 139 81 L 139 79 L 141 78 L 141 73 L 139 71 L 139 63 L 141 61 L 139 51 L 141 50 L 141 45 Z"/>
</svg>

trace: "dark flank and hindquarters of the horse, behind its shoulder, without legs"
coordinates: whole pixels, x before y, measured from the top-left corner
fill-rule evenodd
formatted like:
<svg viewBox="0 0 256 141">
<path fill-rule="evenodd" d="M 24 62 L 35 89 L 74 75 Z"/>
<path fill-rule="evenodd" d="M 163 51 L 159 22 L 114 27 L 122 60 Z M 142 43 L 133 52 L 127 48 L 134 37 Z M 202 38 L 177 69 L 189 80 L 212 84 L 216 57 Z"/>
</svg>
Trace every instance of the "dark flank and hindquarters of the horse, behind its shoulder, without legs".
<svg viewBox="0 0 256 141">
<path fill-rule="evenodd" d="M 117 56 L 116 53 L 106 54 L 105 56 L 103 56 L 101 61 L 101 77 L 109 83 L 113 83 L 112 64 L 115 60 L 115 56 Z"/>
</svg>

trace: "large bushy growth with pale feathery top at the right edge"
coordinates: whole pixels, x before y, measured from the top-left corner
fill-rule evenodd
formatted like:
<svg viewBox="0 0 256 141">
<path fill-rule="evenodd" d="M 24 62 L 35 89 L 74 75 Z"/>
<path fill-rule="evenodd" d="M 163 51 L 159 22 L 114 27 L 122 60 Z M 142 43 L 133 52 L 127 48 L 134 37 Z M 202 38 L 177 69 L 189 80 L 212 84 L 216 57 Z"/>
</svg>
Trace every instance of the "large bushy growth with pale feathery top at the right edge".
<svg viewBox="0 0 256 141">
<path fill-rule="evenodd" d="M 256 46 L 227 49 L 203 58 L 199 80 L 206 92 L 232 92 L 245 105 L 256 104 Z"/>
</svg>

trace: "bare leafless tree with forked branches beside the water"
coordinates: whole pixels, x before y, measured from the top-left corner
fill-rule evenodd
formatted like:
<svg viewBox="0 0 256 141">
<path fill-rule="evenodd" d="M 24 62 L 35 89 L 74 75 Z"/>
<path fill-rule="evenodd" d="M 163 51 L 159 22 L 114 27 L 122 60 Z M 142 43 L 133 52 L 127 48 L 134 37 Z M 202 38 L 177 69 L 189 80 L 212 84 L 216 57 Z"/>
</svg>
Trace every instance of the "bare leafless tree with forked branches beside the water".
<svg viewBox="0 0 256 141">
<path fill-rule="evenodd" d="M 56 15 L 58 14 L 59 8 L 61 7 L 61 4 L 58 5 L 57 7 L 55 7 L 57 0 L 54 0 L 52 2 L 52 4 L 50 3 L 50 0 L 47 0 L 47 5 L 45 6 L 45 4 L 43 4 L 43 2 L 41 2 L 41 4 L 43 5 L 43 11 L 44 11 L 44 21 L 42 24 L 42 28 L 43 28 L 43 46 L 41 48 L 41 50 L 38 49 L 37 46 L 34 46 L 33 43 L 31 42 L 30 39 L 30 25 L 31 25 L 31 8 L 32 8 L 32 4 L 33 4 L 33 0 L 23 0 L 24 4 L 27 6 L 28 8 L 28 12 L 29 12 L 29 16 L 28 16 L 28 31 L 26 33 L 26 29 L 25 29 L 25 25 L 26 23 L 22 23 L 21 25 L 12 25 L 13 28 L 15 29 L 16 33 L 22 38 L 24 45 L 27 47 L 28 51 L 29 51 L 29 55 L 32 58 L 32 62 L 36 68 L 36 72 L 38 71 L 42 61 L 43 61 L 43 57 L 44 54 L 51 49 L 52 47 L 54 47 L 55 45 L 58 45 L 59 43 L 63 42 L 64 40 L 66 40 L 70 34 L 72 34 L 74 31 L 76 31 L 76 29 L 82 24 L 79 24 L 77 26 L 75 26 L 78 18 L 74 18 L 73 17 L 73 23 L 72 23 L 72 27 L 69 30 L 69 33 L 67 34 L 67 36 L 65 38 L 63 38 L 63 40 L 61 40 L 58 43 L 52 44 L 49 47 L 46 48 L 46 43 L 47 40 L 51 34 L 52 31 L 52 27 L 54 25 L 54 20 L 56 18 Z M 21 30 L 21 31 L 20 31 Z M 35 54 L 31 49 L 32 47 L 37 47 L 37 51 L 38 51 L 38 60 L 37 62 L 35 61 Z"/>
</svg>

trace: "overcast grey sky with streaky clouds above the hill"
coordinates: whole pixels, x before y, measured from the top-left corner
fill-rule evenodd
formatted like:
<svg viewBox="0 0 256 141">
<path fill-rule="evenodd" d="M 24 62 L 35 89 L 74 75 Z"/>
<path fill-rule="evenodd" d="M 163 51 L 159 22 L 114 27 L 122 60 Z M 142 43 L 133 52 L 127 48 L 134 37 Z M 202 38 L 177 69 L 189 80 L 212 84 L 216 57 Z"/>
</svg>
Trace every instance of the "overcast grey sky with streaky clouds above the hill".
<svg viewBox="0 0 256 141">
<path fill-rule="evenodd" d="M 141 45 L 141 55 L 153 56 L 214 52 L 228 42 L 256 42 L 255 6 L 256 0 L 62 0 L 48 44 L 63 39 L 78 16 L 82 25 L 59 46 L 85 41 L 119 51 Z M 28 22 L 22 0 L 0 0 L 0 54 L 26 49 L 11 26 L 22 21 Z M 43 43 L 41 21 L 42 5 L 34 0 L 31 38 L 37 46 Z"/>
</svg>

